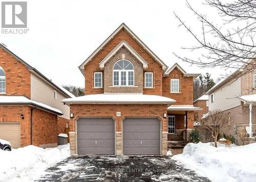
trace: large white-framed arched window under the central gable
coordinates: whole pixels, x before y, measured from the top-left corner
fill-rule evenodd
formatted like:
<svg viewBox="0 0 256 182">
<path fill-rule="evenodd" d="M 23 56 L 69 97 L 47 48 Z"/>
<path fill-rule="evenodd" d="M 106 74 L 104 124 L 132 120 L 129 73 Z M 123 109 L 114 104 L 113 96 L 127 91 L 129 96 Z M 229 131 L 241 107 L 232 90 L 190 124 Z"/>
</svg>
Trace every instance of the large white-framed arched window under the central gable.
<svg viewBox="0 0 256 182">
<path fill-rule="evenodd" d="M 134 66 L 125 59 L 119 60 L 113 67 L 114 86 L 134 86 Z"/>
</svg>

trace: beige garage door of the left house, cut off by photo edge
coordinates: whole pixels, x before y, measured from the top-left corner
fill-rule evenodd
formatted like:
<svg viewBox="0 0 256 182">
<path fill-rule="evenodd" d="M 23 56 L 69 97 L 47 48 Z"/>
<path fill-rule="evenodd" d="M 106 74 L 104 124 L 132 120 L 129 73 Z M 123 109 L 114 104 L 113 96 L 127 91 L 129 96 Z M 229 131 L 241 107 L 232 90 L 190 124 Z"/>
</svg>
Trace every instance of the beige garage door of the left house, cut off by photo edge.
<svg viewBox="0 0 256 182">
<path fill-rule="evenodd" d="M 20 147 L 20 123 L 19 122 L 0 122 L 0 139 L 11 143 L 12 148 Z"/>
</svg>

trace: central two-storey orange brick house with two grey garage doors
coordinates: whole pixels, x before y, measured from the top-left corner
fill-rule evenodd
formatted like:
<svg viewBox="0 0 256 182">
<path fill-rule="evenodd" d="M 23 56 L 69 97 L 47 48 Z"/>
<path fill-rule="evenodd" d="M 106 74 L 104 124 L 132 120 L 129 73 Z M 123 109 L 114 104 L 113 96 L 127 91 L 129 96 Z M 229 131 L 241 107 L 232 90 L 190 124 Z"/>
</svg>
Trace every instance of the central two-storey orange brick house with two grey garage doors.
<svg viewBox="0 0 256 182">
<path fill-rule="evenodd" d="M 70 105 L 72 154 L 162 154 L 194 128 L 193 80 L 168 67 L 124 24 L 79 69 L 85 96 Z"/>
</svg>

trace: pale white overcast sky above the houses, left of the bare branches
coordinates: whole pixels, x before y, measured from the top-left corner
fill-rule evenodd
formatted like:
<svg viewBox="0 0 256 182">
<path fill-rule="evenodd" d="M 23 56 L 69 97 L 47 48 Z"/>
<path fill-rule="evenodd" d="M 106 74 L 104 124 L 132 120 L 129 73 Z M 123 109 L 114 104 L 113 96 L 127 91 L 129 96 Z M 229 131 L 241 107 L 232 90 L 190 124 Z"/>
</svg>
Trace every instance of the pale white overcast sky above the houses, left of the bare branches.
<svg viewBox="0 0 256 182">
<path fill-rule="evenodd" d="M 224 74 L 200 69 L 174 54 L 196 58 L 181 47 L 196 44 L 175 18 L 174 11 L 200 34 L 200 24 L 185 1 L 27 1 L 27 35 L 0 34 L 0 42 L 57 84 L 84 86 L 78 66 L 124 22 L 168 66 L 178 62 L 187 73 Z M 198 11 L 218 20 L 216 9 L 190 1 Z"/>
</svg>

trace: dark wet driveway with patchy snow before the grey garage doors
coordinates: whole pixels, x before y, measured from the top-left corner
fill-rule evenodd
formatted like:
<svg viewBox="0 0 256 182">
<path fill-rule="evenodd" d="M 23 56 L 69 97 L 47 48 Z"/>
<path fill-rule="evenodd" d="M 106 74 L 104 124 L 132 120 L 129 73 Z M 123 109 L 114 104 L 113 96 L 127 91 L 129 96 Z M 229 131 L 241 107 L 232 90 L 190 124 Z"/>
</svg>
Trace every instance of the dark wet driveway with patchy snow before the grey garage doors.
<svg viewBox="0 0 256 182">
<path fill-rule="evenodd" d="M 38 181 L 210 181 L 166 156 L 71 156 Z"/>
</svg>

